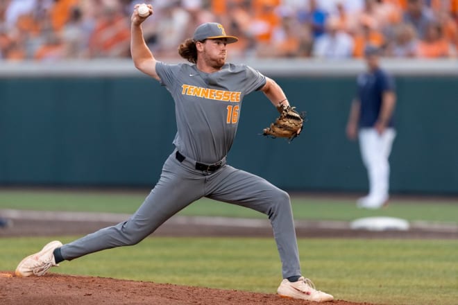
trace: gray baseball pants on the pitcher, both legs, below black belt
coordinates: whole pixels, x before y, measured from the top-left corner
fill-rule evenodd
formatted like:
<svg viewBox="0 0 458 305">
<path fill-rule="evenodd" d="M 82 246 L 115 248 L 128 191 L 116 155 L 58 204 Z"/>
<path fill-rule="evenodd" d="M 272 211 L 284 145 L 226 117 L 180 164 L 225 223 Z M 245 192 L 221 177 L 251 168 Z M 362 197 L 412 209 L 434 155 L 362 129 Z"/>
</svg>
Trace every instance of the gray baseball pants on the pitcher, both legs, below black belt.
<svg viewBox="0 0 458 305">
<path fill-rule="evenodd" d="M 198 171 L 195 162 L 176 159 L 176 151 L 162 167 L 158 184 L 135 214 L 123 223 L 100 229 L 60 248 L 66 260 L 85 254 L 135 245 L 162 223 L 202 197 L 237 204 L 269 216 L 282 261 L 283 278 L 301 275 L 289 195 L 251 173 L 223 166 L 213 173 Z"/>
</svg>

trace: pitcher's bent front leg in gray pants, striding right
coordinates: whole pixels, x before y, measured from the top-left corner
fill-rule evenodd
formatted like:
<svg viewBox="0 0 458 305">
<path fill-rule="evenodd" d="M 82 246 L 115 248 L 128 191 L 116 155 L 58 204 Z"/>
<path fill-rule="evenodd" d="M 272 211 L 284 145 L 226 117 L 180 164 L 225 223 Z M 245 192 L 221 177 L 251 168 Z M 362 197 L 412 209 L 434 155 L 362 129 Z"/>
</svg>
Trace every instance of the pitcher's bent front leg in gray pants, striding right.
<svg viewBox="0 0 458 305">
<path fill-rule="evenodd" d="M 261 177 L 225 166 L 207 182 L 206 196 L 269 216 L 284 278 L 301 275 L 289 195 Z"/>
</svg>

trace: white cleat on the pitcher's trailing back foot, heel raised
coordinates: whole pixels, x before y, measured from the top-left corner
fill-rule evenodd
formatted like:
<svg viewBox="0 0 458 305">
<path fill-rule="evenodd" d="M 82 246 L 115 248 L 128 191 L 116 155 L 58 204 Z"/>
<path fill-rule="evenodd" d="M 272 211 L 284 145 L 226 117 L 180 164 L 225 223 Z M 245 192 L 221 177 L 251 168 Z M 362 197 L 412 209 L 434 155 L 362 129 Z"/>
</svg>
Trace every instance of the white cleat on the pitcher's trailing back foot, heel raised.
<svg viewBox="0 0 458 305">
<path fill-rule="evenodd" d="M 46 244 L 40 252 L 27 256 L 17 265 L 15 274 L 17 277 L 38 277 L 44 275 L 49 268 L 58 266 L 54 260 L 53 251 L 57 247 L 62 247 L 60 241 L 51 241 Z"/>
</svg>

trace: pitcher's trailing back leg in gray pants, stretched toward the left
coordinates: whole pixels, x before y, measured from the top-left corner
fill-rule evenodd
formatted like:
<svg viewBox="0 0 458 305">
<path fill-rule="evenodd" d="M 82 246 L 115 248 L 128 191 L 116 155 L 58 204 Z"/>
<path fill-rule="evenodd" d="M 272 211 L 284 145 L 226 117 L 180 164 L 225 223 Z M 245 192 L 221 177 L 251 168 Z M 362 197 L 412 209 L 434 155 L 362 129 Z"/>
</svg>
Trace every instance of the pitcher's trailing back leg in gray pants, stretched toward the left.
<svg viewBox="0 0 458 305">
<path fill-rule="evenodd" d="M 201 198 L 203 180 L 189 179 L 192 174 L 186 173 L 180 166 L 176 160 L 169 158 L 158 184 L 133 216 L 123 223 L 63 245 L 60 247 L 62 258 L 71 260 L 112 247 L 135 245 L 178 211 Z"/>
</svg>

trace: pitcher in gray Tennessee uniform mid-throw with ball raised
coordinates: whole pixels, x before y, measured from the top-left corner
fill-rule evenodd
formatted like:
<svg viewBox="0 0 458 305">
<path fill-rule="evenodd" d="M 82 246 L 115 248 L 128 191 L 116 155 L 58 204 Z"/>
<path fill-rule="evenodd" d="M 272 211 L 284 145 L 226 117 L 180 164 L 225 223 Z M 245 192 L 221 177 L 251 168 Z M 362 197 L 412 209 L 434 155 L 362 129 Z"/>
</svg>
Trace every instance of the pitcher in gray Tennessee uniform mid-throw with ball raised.
<svg viewBox="0 0 458 305">
<path fill-rule="evenodd" d="M 315 302 L 332 300 L 332 295 L 316 290 L 301 273 L 289 195 L 262 177 L 226 163 L 247 94 L 264 93 L 280 112 L 278 120 L 264 129 L 266 135 L 293 139 L 302 128 L 303 116 L 289 106 L 285 93 L 271 78 L 246 65 L 226 63 L 227 46 L 237 42 L 237 37 L 226 35 L 221 24 L 201 24 L 192 38 L 180 44 L 178 53 L 189 63 L 167 64 L 157 60 L 142 33 L 142 22 L 153 15 L 153 8 L 149 5 L 149 14 L 141 17 L 138 7 L 135 6 L 131 17 L 133 62 L 173 97 L 175 149 L 164 162 L 159 181 L 128 220 L 66 245 L 51 241 L 40 252 L 22 260 L 16 275 L 44 275 L 65 260 L 135 245 L 178 211 L 206 197 L 254 209 L 269 217 L 282 261 L 279 295 Z"/>
</svg>

